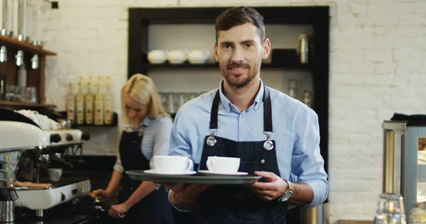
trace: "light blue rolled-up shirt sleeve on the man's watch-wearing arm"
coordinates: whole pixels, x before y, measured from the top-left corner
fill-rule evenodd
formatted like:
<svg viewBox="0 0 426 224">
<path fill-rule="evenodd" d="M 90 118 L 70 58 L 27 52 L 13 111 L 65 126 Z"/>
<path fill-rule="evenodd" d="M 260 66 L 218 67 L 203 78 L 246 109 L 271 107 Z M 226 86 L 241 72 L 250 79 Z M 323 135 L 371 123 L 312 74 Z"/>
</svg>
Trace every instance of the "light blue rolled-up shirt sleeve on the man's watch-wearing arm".
<svg viewBox="0 0 426 224">
<path fill-rule="evenodd" d="M 314 208 L 327 199 L 329 183 L 320 154 L 320 127 L 318 116 L 311 109 L 302 109 L 295 121 L 295 146 L 292 170 L 297 182 L 308 184 L 314 193 L 305 208 Z"/>
</svg>

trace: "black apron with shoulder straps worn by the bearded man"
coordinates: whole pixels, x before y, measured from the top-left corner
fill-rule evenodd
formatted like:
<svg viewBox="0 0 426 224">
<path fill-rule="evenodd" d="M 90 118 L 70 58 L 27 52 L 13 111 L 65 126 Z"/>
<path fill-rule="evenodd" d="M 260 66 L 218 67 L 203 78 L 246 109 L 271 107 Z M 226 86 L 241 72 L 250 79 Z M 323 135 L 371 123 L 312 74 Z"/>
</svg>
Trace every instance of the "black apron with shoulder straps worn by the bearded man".
<svg viewBox="0 0 426 224">
<path fill-rule="evenodd" d="M 272 111 L 268 88 L 264 88 L 263 93 L 263 132 L 266 139 L 264 141 L 237 142 L 214 136 L 218 130 L 219 101 L 218 90 L 212 104 L 209 127 L 211 135 L 204 138 L 200 170 L 207 170 L 206 162 L 209 156 L 239 157 L 241 159 L 239 172 L 253 174 L 255 171 L 266 171 L 273 172 L 280 177 L 275 141 L 271 140 Z M 259 181 L 266 180 L 260 179 Z M 204 191 L 198 198 L 198 208 L 194 212 L 195 221 L 192 220 L 192 222 L 200 224 L 285 224 L 286 213 L 286 202 L 261 201 L 256 194 L 241 184 L 215 185 Z"/>
</svg>

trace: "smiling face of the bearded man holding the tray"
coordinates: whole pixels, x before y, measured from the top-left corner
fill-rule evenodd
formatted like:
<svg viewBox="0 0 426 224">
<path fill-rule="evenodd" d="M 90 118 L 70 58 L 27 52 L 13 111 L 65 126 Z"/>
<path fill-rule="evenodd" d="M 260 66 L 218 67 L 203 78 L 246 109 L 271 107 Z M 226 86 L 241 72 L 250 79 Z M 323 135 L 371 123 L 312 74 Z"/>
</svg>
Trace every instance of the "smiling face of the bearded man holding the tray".
<svg viewBox="0 0 426 224">
<path fill-rule="evenodd" d="M 219 31 L 214 43 L 214 58 L 226 82 L 241 89 L 259 74 L 262 59 L 271 50 L 268 39 L 262 41 L 258 28 L 244 23 L 229 30 Z"/>
</svg>

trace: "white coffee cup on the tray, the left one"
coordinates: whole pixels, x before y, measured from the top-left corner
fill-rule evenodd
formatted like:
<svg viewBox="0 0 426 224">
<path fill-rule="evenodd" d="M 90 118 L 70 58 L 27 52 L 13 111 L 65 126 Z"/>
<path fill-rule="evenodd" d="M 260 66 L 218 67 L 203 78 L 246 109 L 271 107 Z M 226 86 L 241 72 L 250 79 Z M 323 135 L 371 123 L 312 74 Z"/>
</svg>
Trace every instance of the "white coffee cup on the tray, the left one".
<svg viewBox="0 0 426 224">
<path fill-rule="evenodd" d="M 176 155 L 155 155 L 155 170 L 162 174 L 179 174 L 192 171 L 192 159 Z"/>
</svg>

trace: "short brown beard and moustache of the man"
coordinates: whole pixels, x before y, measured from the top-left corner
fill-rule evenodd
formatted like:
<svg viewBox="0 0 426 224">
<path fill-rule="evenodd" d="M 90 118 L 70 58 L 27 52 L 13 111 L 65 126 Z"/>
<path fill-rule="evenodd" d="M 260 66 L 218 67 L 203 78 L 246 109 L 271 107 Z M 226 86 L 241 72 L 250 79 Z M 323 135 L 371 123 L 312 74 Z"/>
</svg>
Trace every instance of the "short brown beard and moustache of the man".
<svg viewBox="0 0 426 224">
<path fill-rule="evenodd" d="M 226 80 L 226 82 L 228 82 L 228 84 L 231 87 L 233 87 L 234 89 L 243 89 L 244 87 L 248 86 L 251 83 L 251 81 L 253 81 L 253 79 L 256 77 L 256 74 L 258 74 L 260 67 L 261 67 L 260 62 L 256 62 L 256 64 L 253 67 L 251 67 L 248 64 L 244 64 L 243 62 L 241 63 L 229 62 L 226 65 L 221 66 L 220 71 L 222 72 L 222 75 L 224 76 L 224 79 Z M 228 71 L 229 68 L 245 68 L 245 69 L 248 69 L 249 71 L 247 74 L 245 73 L 241 74 L 241 76 L 246 75 L 244 79 L 237 80 L 237 79 L 233 79 L 234 74 Z"/>
</svg>

